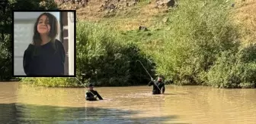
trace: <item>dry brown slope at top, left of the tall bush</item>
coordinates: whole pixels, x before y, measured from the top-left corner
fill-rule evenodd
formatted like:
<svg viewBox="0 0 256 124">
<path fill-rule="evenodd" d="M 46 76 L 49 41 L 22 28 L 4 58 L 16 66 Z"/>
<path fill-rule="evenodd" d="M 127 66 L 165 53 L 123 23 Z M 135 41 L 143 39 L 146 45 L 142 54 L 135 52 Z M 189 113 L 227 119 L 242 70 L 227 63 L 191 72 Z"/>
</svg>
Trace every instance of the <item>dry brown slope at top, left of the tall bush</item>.
<svg viewBox="0 0 256 124">
<path fill-rule="evenodd" d="M 139 26 L 152 26 L 155 17 L 163 17 L 167 12 L 167 8 L 155 8 L 155 1 L 138 2 L 136 5 L 124 6 L 113 11 L 102 11 L 101 5 L 104 5 L 104 0 L 91 0 L 85 7 L 76 9 L 78 20 L 101 22 L 113 26 L 114 29 L 130 30 L 138 29 Z M 59 5 L 61 9 L 75 9 L 74 6 L 75 4 L 70 2 Z"/>
</svg>

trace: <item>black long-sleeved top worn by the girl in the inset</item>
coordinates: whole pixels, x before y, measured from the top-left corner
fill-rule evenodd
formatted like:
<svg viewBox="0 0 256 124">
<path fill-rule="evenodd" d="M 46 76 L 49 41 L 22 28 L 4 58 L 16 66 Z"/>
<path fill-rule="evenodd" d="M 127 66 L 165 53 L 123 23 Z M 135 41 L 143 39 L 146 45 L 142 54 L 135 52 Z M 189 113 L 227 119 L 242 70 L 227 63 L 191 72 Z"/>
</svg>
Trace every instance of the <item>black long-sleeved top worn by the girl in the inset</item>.
<svg viewBox="0 0 256 124">
<path fill-rule="evenodd" d="M 62 42 L 57 39 L 54 44 L 48 42 L 37 49 L 30 44 L 24 51 L 24 72 L 27 76 L 63 76 L 65 57 Z"/>
</svg>

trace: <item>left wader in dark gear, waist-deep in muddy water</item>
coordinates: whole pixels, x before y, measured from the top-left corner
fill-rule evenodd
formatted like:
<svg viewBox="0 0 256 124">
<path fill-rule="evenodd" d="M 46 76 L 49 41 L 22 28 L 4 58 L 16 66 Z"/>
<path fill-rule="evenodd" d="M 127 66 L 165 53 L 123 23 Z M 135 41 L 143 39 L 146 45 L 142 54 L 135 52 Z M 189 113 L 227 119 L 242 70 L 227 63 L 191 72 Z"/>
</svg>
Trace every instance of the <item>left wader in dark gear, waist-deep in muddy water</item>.
<svg viewBox="0 0 256 124">
<path fill-rule="evenodd" d="M 90 83 L 88 85 L 88 91 L 86 91 L 86 101 L 97 101 L 97 98 L 99 98 L 100 100 L 103 100 L 103 98 L 101 98 L 101 95 L 98 94 L 98 91 L 94 91 L 94 86 Z"/>
</svg>

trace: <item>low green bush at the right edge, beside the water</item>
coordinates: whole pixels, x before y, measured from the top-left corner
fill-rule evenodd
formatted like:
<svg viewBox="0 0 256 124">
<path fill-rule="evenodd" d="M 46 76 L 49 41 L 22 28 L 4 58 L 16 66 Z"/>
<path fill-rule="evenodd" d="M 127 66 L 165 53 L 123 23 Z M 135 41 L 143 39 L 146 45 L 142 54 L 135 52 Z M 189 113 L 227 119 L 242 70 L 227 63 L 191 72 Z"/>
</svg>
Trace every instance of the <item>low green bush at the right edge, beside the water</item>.
<svg viewBox="0 0 256 124">
<path fill-rule="evenodd" d="M 236 53 L 223 52 L 207 74 L 206 85 L 219 88 L 254 88 L 256 86 L 255 48 L 255 45 L 251 45 Z"/>
</svg>

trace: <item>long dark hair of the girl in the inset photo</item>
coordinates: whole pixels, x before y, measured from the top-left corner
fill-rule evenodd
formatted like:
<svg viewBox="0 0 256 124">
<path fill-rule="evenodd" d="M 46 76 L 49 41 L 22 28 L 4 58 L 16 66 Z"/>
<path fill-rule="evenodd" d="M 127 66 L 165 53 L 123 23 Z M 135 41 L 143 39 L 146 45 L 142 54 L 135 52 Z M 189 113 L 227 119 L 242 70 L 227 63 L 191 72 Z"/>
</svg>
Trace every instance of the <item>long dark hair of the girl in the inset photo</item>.
<svg viewBox="0 0 256 124">
<path fill-rule="evenodd" d="M 59 33 L 58 20 L 56 19 L 56 17 L 53 16 L 53 14 L 43 13 L 43 14 L 40 14 L 39 17 L 37 17 L 37 22 L 34 24 L 34 36 L 33 36 L 33 44 L 35 45 L 34 55 L 38 54 L 38 52 L 37 52 L 38 48 L 42 43 L 40 33 L 38 33 L 38 30 L 37 30 L 37 25 L 39 23 L 40 17 L 42 17 L 43 15 L 45 15 L 47 17 L 47 19 L 49 20 L 50 32 L 49 32 L 48 36 L 50 38 L 50 42 L 52 42 L 54 50 L 57 49 L 56 45 L 55 45 L 55 39 Z"/>
</svg>

